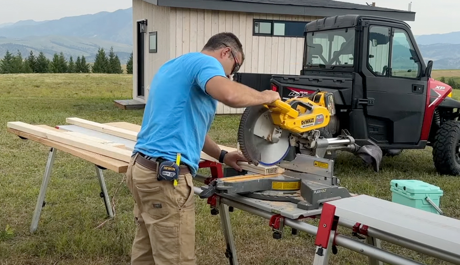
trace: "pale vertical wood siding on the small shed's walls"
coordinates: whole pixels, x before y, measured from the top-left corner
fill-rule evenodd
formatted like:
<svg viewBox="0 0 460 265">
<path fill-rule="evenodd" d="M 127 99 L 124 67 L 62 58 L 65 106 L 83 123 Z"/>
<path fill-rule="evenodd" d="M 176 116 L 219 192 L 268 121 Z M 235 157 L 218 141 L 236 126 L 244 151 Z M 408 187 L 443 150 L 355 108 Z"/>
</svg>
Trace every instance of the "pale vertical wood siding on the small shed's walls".
<svg viewBox="0 0 460 265">
<path fill-rule="evenodd" d="M 200 51 L 211 36 L 220 32 L 234 33 L 243 44 L 246 60 L 240 72 L 300 74 L 304 39 L 252 36 L 253 20 L 259 18 L 311 21 L 319 18 L 165 8 L 148 4 L 142 0 L 133 0 L 133 10 L 134 19 L 140 19 L 140 17 L 149 19 L 149 32 L 152 29 L 158 31 L 158 54 L 148 53 L 148 38 L 146 40 L 146 84 L 149 84 L 158 67 L 167 60 L 187 52 Z M 243 111 L 244 109 L 234 109 L 219 103 L 216 113 L 240 114 Z"/>
</svg>

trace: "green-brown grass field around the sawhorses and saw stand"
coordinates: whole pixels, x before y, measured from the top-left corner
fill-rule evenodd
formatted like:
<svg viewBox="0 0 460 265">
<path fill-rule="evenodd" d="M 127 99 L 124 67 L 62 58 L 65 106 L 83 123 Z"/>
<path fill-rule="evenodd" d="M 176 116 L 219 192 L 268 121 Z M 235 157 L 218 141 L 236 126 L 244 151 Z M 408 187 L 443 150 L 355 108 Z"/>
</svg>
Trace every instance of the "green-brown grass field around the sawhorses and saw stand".
<svg viewBox="0 0 460 265">
<path fill-rule="evenodd" d="M 116 197 L 116 217 L 101 228 L 105 207 L 99 197 L 94 165 L 58 152 L 38 231 L 29 233 L 49 149 L 6 131 L 8 121 L 55 126 L 66 117 L 97 122 L 141 124 L 143 111 L 122 111 L 114 99 L 131 97 L 131 75 L 18 74 L 0 75 L 0 265 L 18 264 L 129 264 L 134 236 L 133 200 L 124 183 Z M 455 92 L 454 92 L 455 93 Z M 457 96 L 457 95 L 455 95 Z M 239 116 L 219 116 L 211 136 L 236 146 Z M 336 175 L 350 192 L 391 200 L 392 179 L 420 179 L 444 190 L 441 208 L 460 218 L 460 178 L 440 176 L 432 164 L 431 149 L 404 151 L 385 157 L 379 173 L 364 168 L 358 158 L 340 153 Z M 202 171 L 206 174 L 207 172 Z M 122 174 L 104 171 L 112 197 Z M 198 184 L 198 183 L 196 183 Z M 309 264 L 314 239 L 305 233 L 273 240 L 268 220 L 235 209 L 231 213 L 240 264 Z M 315 224 L 316 221 L 308 221 Z M 350 230 L 341 229 L 346 235 Z M 447 264 L 412 251 L 383 244 L 384 248 L 427 264 Z M 218 216 L 196 197 L 197 264 L 228 264 Z M 343 248 L 331 264 L 366 264 L 367 257 Z"/>
</svg>

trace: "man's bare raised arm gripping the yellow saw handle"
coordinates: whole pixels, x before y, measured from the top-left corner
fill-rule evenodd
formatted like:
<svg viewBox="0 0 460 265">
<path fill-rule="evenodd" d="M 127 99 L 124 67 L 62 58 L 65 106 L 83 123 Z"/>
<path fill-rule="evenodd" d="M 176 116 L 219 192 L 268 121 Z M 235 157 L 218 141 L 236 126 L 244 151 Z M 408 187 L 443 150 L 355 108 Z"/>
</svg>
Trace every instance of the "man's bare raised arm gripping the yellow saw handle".
<svg viewBox="0 0 460 265">
<path fill-rule="evenodd" d="M 213 98 L 232 108 L 268 104 L 277 99 L 281 99 L 278 92 L 271 90 L 259 92 L 223 76 L 214 76 L 211 78 L 208 83 L 206 83 L 206 92 Z"/>
</svg>

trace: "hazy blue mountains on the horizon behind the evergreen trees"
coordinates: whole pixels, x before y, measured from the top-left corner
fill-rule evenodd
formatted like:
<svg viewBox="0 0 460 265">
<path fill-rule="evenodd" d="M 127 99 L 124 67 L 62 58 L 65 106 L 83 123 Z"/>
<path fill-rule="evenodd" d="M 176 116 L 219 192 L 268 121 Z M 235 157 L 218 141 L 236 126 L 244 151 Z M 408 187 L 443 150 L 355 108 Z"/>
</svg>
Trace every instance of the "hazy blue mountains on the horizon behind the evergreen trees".
<svg viewBox="0 0 460 265">
<path fill-rule="evenodd" d="M 425 62 L 433 69 L 460 69 L 460 32 L 415 36 Z M 26 57 L 44 52 L 52 58 L 63 52 L 66 58 L 84 55 L 93 62 L 98 48 L 113 47 L 122 63 L 132 52 L 132 8 L 99 12 L 56 20 L 21 20 L 0 24 L 0 58 L 6 50 L 19 50 Z"/>
</svg>

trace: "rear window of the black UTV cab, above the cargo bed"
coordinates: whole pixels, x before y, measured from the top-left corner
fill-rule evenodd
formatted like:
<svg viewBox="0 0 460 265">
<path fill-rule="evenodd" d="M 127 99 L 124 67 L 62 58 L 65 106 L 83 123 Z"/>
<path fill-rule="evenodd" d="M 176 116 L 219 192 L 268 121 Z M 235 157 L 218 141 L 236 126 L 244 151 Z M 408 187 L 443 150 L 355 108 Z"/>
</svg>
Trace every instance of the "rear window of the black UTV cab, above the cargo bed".
<svg viewBox="0 0 460 265">
<path fill-rule="evenodd" d="M 305 65 L 321 68 L 353 66 L 355 31 L 340 29 L 307 33 Z"/>
</svg>

